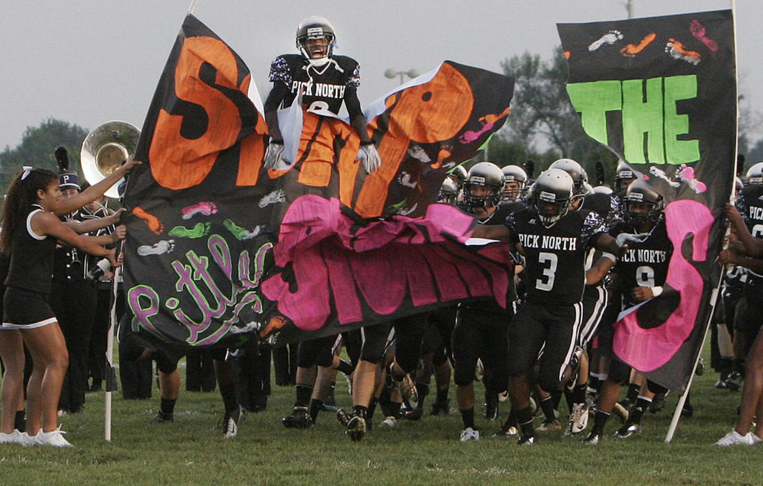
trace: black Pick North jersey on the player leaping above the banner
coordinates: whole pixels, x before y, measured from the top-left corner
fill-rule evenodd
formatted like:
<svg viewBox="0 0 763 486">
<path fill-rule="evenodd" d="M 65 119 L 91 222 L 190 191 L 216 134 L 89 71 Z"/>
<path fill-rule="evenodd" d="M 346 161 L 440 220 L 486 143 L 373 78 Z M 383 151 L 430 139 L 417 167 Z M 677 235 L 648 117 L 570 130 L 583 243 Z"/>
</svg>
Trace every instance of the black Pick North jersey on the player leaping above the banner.
<svg viewBox="0 0 763 486">
<path fill-rule="evenodd" d="M 288 87 L 282 107 L 302 93 L 302 104 L 322 107 L 339 114 L 346 88 L 360 85 L 360 66 L 347 56 L 332 56 L 324 66 L 311 66 L 299 54 L 283 54 L 270 63 L 270 81 L 282 82 Z"/>
</svg>

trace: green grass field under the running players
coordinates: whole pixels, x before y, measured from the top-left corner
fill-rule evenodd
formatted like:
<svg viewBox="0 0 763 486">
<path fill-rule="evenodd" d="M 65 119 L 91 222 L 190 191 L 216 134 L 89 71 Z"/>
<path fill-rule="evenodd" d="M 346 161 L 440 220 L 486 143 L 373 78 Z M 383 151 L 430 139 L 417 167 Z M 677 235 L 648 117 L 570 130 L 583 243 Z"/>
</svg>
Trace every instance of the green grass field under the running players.
<svg viewBox="0 0 763 486">
<path fill-rule="evenodd" d="M 217 391 L 183 390 L 175 422 L 153 426 L 156 385 L 150 400 L 125 401 L 116 392 L 112 440 L 106 442 L 104 395 L 89 393 L 84 414 L 61 418 L 74 447 L 0 445 L 0 483 L 763 484 L 761 446 L 713 446 L 731 430 L 740 397 L 713 388 L 716 378 L 708 370 L 695 379 L 694 417 L 681 420 L 672 443 L 664 440 L 677 397 L 668 396 L 662 412 L 645 417 L 640 436 L 611 439 L 619 423 L 613 419 L 598 446 L 559 432 L 520 447 L 514 440 L 491 437 L 500 421 L 481 418 L 483 439 L 462 444 L 460 416 L 453 409 L 448 417 L 426 415 L 392 430 L 380 429 L 384 417 L 375 417 L 374 430 L 353 443 L 330 412 L 321 412 L 309 430 L 282 427 L 280 419 L 291 411 L 294 392 L 275 385 L 267 411 L 248 414 L 235 440 L 224 440 L 216 427 L 222 416 Z M 351 406 L 343 379 L 337 382 L 336 401 Z M 475 411 L 481 416 L 481 405 Z M 501 411 L 502 418 L 506 413 Z"/>
</svg>

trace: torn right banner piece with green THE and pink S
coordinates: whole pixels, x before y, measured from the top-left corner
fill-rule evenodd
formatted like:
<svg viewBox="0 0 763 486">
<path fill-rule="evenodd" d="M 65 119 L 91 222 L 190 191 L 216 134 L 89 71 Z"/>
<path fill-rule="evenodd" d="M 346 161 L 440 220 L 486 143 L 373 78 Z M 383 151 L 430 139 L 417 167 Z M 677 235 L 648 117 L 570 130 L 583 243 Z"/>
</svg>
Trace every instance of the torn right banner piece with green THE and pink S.
<svg viewBox="0 0 763 486">
<path fill-rule="evenodd" d="M 617 323 L 614 351 L 681 392 L 720 279 L 721 216 L 735 175 L 732 12 L 557 27 L 586 133 L 662 194 L 674 246 L 665 292 Z"/>
</svg>

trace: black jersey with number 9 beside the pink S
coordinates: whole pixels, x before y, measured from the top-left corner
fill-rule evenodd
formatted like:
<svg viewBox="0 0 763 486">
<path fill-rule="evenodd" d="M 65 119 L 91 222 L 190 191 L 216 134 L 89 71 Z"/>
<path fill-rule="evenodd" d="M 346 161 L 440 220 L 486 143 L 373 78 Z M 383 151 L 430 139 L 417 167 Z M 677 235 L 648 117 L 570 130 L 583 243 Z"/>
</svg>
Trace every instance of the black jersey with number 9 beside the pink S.
<svg viewBox="0 0 763 486">
<path fill-rule="evenodd" d="M 616 225 L 613 235 L 620 233 L 637 233 L 632 225 L 625 222 Z M 673 254 L 673 243 L 668 238 L 665 219 L 659 221 L 649 232 L 649 238 L 643 243 L 632 241 L 622 257 L 617 259 L 614 271 L 620 282 L 625 307 L 639 302 L 630 298 L 631 291 L 636 287 L 655 287 L 665 284 L 668 277 L 668 264 Z"/>
</svg>

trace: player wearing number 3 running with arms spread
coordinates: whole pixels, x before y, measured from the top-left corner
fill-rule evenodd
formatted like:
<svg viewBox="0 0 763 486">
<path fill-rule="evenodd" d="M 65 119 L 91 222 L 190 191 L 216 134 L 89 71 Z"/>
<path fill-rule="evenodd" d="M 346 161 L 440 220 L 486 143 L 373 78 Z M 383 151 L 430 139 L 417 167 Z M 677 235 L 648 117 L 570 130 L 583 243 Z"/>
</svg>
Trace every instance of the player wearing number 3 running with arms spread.
<svg viewBox="0 0 763 486">
<path fill-rule="evenodd" d="M 508 360 L 509 396 L 523 445 L 535 442 L 528 373 L 539 351 L 545 346 L 538 384 L 546 392 L 559 389 L 575 351 L 588 248 L 621 254 L 630 239 L 608 235 L 596 213 L 569 210 L 572 197 L 572 177 L 549 169 L 533 184 L 530 207 L 512 213 L 504 225 L 477 225 L 472 232 L 519 243 L 525 256 L 526 301 L 509 328 Z"/>
</svg>

